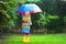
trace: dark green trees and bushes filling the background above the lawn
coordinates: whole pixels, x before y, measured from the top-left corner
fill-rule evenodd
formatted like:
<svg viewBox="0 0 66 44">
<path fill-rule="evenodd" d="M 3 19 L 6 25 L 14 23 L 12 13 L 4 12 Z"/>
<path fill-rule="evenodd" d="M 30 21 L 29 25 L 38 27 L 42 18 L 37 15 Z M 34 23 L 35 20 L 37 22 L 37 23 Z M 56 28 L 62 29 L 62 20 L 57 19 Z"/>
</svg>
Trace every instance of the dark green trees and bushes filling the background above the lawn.
<svg viewBox="0 0 66 44">
<path fill-rule="evenodd" d="M 3 28 L 6 31 L 8 29 L 21 29 L 22 16 L 16 13 L 16 9 L 24 3 L 35 3 L 43 11 L 42 13 L 31 14 L 33 23 L 32 30 L 34 28 L 37 30 L 46 28 L 48 33 L 66 32 L 65 0 L 1 0 L 0 28 Z"/>
</svg>

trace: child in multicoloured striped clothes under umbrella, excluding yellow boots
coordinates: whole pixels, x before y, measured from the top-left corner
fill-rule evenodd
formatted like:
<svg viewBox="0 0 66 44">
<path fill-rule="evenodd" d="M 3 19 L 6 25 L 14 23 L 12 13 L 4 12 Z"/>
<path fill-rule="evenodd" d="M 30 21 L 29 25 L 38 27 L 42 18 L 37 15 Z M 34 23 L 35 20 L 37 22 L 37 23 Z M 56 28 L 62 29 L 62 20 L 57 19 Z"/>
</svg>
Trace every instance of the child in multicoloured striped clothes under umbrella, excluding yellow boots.
<svg viewBox="0 0 66 44">
<path fill-rule="evenodd" d="M 22 16 L 22 33 L 23 33 L 23 35 L 30 34 L 30 25 L 32 25 L 30 12 L 25 12 Z"/>
</svg>

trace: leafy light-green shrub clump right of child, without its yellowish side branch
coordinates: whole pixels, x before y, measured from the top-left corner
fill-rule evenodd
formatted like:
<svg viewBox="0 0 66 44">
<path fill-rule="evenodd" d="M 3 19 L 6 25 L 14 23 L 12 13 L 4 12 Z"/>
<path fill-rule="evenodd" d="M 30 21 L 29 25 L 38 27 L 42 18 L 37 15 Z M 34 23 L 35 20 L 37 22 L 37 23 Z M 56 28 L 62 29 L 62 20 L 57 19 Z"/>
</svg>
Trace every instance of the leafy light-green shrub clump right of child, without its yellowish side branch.
<svg viewBox="0 0 66 44">
<path fill-rule="evenodd" d="M 50 22 L 50 20 L 47 19 L 46 13 L 45 12 L 43 14 L 40 13 L 40 20 L 37 20 L 38 25 L 43 26 L 47 24 L 47 22 Z"/>
</svg>

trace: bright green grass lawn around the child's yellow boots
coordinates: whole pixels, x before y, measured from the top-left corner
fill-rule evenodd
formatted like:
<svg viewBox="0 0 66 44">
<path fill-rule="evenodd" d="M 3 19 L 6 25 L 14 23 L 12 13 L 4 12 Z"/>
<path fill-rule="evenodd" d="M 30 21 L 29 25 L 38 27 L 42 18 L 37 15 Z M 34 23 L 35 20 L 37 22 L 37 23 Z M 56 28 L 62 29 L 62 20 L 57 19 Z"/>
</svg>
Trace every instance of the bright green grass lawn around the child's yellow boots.
<svg viewBox="0 0 66 44">
<path fill-rule="evenodd" d="M 0 44 L 66 44 L 66 34 L 48 34 L 48 35 L 30 35 L 31 42 L 23 43 L 22 35 L 6 35 L 8 40 Z"/>
</svg>

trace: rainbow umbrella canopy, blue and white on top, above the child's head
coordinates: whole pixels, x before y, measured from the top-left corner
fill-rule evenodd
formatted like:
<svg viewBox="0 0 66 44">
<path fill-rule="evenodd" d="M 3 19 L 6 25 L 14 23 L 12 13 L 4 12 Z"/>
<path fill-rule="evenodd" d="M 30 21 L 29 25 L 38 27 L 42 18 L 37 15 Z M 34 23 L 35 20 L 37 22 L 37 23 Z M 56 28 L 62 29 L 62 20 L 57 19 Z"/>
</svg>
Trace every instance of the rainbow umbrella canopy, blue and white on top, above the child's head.
<svg viewBox="0 0 66 44">
<path fill-rule="evenodd" d="M 22 4 L 18 8 L 18 13 L 24 13 L 26 11 L 30 13 L 42 12 L 36 4 Z"/>
</svg>

